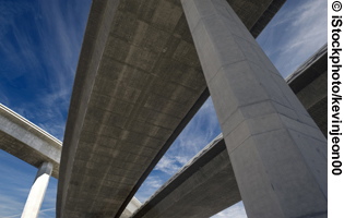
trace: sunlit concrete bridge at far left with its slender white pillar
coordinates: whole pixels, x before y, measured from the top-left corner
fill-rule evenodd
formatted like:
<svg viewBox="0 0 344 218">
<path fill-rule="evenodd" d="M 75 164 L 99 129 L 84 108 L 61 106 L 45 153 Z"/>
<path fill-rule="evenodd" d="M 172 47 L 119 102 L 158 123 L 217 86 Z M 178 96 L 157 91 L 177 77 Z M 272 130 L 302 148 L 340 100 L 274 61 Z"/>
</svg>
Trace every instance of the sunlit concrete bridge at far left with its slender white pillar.
<svg viewBox="0 0 344 218">
<path fill-rule="evenodd" d="M 49 178 L 58 179 L 62 143 L 0 104 L 0 149 L 38 168 L 22 218 L 38 216 Z M 121 218 L 129 217 L 141 203 L 133 197 Z"/>
</svg>

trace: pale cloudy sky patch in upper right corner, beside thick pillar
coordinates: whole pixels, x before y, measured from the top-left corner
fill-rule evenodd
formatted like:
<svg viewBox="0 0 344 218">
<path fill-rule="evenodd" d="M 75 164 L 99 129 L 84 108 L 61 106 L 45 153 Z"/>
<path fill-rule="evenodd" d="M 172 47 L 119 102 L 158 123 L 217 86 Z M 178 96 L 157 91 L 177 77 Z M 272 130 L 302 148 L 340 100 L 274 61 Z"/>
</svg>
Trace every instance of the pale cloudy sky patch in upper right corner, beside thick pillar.
<svg viewBox="0 0 344 218">
<path fill-rule="evenodd" d="M 327 43 L 328 1 L 287 1 L 257 41 L 286 77 Z"/>
</svg>

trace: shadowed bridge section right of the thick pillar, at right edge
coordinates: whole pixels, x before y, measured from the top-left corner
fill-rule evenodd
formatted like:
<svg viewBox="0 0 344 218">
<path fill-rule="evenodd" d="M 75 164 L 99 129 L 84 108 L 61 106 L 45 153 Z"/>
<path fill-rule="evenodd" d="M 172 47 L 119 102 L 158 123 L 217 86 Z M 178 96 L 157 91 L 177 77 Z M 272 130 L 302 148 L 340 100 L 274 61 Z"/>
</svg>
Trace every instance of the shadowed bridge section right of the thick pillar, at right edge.
<svg viewBox="0 0 344 218">
<path fill-rule="evenodd" d="M 305 61 L 286 82 L 328 137 L 328 45 Z"/>
</svg>

